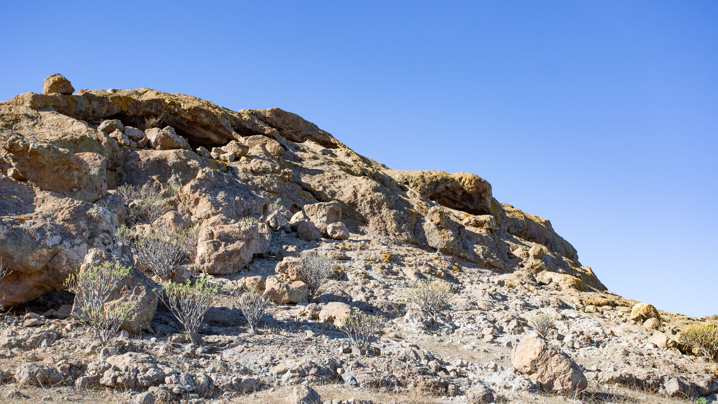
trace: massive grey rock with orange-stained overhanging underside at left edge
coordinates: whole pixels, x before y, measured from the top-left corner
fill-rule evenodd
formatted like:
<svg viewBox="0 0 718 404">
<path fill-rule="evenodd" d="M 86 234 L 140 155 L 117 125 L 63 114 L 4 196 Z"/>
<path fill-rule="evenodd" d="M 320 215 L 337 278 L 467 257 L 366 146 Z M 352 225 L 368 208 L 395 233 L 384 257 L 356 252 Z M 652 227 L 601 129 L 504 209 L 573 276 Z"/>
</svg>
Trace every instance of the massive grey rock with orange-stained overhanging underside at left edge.
<svg viewBox="0 0 718 404">
<path fill-rule="evenodd" d="M 0 257 L 12 270 L 5 303 L 14 306 L 62 288 L 91 248 L 113 249 L 117 216 L 0 175 Z"/>
</svg>

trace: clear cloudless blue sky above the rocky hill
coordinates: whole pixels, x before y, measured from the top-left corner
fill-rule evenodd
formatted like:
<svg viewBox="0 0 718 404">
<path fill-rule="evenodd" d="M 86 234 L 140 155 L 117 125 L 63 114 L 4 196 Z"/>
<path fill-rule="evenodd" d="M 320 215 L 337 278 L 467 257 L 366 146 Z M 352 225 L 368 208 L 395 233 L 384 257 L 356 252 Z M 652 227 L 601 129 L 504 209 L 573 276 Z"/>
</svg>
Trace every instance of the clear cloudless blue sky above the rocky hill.
<svg viewBox="0 0 718 404">
<path fill-rule="evenodd" d="M 718 314 L 718 1 L 2 1 L 0 98 L 151 87 L 467 171 L 607 287 Z"/>
</svg>

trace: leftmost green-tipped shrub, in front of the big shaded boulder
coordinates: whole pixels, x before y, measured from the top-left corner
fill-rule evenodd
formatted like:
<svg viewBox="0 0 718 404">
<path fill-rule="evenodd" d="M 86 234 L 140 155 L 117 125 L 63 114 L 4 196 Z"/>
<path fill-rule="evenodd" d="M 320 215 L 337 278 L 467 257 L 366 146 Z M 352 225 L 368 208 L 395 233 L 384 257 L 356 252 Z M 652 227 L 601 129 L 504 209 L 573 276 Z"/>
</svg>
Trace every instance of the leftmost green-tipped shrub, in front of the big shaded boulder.
<svg viewBox="0 0 718 404">
<path fill-rule="evenodd" d="M 70 275 L 65 282 L 67 289 L 75 293 L 78 309 L 75 316 L 88 324 L 103 346 L 117 334 L 122 323 L 136 317 L 136 308 L 129 303 L 106 304 L 129 271 L 129 267 L 103 262 Z"/>
</svg>

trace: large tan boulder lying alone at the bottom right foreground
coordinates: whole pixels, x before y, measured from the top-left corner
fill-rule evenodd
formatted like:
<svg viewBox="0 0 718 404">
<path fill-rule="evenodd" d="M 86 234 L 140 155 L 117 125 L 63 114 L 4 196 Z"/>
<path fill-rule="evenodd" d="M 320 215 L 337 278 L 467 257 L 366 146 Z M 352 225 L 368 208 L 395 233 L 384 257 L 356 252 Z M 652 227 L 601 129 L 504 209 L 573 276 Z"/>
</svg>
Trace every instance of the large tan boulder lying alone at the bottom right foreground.
<svg viewBox="0 0 718 404">
<path fill-rule="evenodd" d="M 574 359 L 538 335 L 527 336 L 514 346 L 511 364 L 546 392 L 572 395 L 588 385 Z"/>
</svg>

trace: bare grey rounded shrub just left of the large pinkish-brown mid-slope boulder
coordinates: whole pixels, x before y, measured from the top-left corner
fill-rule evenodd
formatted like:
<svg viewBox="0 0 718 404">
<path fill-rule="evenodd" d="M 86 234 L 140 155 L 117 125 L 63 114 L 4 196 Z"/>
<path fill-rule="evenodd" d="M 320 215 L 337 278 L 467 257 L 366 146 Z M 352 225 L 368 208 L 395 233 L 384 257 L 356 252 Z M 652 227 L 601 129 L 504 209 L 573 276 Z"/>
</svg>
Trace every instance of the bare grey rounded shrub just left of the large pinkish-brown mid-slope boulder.
<svg viewBox="0 0 718 404">
<path fill-rule="evenodd" d="M 138 237 L 133 252 L 142 265 L 163 281 L 171 280 L 187 259 L 187 252 L 172 234 L 153 233 Z"/>
</svg>

